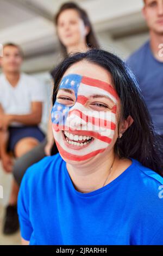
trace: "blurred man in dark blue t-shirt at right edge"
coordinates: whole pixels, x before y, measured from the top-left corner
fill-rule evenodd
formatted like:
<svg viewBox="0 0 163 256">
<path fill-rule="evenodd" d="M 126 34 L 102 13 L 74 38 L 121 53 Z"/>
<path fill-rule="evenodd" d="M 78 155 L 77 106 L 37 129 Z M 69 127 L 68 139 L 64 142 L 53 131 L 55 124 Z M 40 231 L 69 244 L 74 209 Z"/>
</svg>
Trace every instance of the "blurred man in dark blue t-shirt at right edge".
<svg viewBox="0 0 163 256">
<path fill-rule="evenodd" d="M 149 41 L 127 63 L 139 80 L 155 131 L 163 142 L 163 0 L 145 0 L 142 9 Z"/>
</svg>

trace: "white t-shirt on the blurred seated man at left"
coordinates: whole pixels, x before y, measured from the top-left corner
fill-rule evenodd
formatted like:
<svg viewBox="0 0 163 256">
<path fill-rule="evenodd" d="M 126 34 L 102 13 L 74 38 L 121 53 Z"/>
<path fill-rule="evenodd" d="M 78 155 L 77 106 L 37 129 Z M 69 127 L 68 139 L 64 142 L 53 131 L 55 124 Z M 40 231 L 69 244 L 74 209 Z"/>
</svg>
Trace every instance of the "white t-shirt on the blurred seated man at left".
<svg viewBox="0 0 163 256">
<path fill-rule="evenodd" d="M 0 75 L 0 103 L 5 114 L 30 114 L 32 102 L 45 102 L 43 86 L 36 78 L 21 73 L 16 87 L 12 87 L 5 75 Z"/>
</svg>

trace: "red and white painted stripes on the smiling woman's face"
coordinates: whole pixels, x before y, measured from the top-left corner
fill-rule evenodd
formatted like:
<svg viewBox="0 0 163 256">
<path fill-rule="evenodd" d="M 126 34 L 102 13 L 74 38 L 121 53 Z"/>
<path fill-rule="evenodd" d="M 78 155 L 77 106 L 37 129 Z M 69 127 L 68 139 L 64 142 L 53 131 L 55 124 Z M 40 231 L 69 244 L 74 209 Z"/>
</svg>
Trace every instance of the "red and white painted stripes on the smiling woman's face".
<svg viewBox="0 0 163 256">
<path fill-rule="evenodd" d="M 109 96 L 115 103 L 112 110 L 106 112 L 88 111 L 84 105 L 92 92 L 93 94 Z M 115 134 L 117 102 L 116 91 L 108 83 L 83 77 L 78 88 L 77 101 L 70 108 L 65 126 L 53 124 L 54 138 L 62 157 L 74 161 L 84 161 L 102 153 L 111 143 Z M 70 153 L 70 148 L 62 139 L 60 130 L 67 130 L 70 133 L 72 131 L 72 133 L 91 136 L 95 139 L 86 148 L 82 150 L 71 149 Z"/>
</svg>

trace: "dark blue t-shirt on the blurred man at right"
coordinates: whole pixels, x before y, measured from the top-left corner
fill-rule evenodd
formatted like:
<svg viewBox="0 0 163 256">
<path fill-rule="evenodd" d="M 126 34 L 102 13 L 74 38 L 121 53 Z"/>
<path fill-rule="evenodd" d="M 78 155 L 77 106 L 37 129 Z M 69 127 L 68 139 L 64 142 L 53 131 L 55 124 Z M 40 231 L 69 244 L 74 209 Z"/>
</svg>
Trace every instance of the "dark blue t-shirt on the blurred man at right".
<svg viewBox="0 0 163 256">
<path fill-rule="evenodd" d="M 139 81 L 156 132 L 163 135 L 163 63 L 154 58 L 148 41 L 129 57 L 127 64 Z"/>
</svg>

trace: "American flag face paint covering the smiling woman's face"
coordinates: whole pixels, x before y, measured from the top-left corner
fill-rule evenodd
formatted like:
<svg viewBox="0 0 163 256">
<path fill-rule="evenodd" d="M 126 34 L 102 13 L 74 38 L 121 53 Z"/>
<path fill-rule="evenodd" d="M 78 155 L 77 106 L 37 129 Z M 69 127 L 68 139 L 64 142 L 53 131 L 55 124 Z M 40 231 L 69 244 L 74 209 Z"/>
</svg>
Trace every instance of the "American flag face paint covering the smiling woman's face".
<svg viewBox="0 0 163 256">
<path fill-rule="evenodd" d="M 70 74 L 62 78 L 59 92 L 64 93 L 57 95 L 52 108 L 52 126 L 60 155 L 66 160 L 79 162 L 106 150 L 116 130 L 118 95 L 115 89 L 106 82 Z M 73 94 L 74 100 L 65 103 L 65 92 Z M 91 108 L 90 99 L 97 95 L 108 97 L 110 108 L 105 110 L 103 107 L 102 111 L 97 107 L 97 110 Z"/>
</svg>

